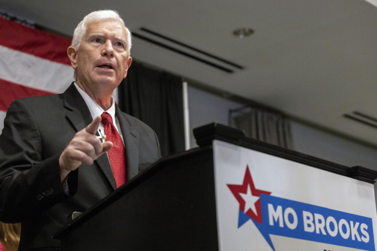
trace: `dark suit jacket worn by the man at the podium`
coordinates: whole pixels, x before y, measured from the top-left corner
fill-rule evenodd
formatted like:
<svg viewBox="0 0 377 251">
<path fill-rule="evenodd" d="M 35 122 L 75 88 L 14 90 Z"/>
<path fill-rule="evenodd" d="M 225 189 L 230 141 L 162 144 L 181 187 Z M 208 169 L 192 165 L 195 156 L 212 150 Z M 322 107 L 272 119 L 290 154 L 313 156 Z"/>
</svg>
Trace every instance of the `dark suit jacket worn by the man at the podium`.
<svg viewBox="0 0 377 251">
<path fill-rule="evenodd" d="M 160 158 L 158 139 L 118 107 L 116 116 L 126 146 L 127 177 L 132 178 Z M 91 121 L 73 84 L 62 94 L 22 98 L 9 106 L 0 136 L 0 220 L 21 222 L 19 250 L 60 249 L 60 241 L 51 237 L 67 217 L 116 189 L 106 154 L 69 174 L 69 195 L 62 189 L 59 156 Z"/>
</svg>

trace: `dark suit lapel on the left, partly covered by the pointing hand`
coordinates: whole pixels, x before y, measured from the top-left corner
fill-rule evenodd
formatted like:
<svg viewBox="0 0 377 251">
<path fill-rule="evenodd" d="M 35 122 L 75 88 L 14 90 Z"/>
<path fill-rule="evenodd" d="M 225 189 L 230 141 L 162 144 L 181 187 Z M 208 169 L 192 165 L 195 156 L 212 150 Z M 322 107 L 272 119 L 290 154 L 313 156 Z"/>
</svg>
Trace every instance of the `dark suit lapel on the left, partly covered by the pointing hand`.
<svg viewBox="0 0 377 251">
<path fill-rule="evenodd" d="M 77 132 L 84 129 L 88 124 L 90 124 L 90 122 L 93 121 L 84 99 L 81 97 L 73 83 L 64 92 L 64 107 L 71 110 L 69 113 L 67 113 L 67 119 L 72 123 Z M 107 180 L 115 190 L 115 179 L 107 155 L 101 155 L 100 158 L 94 162 L 97 163 L 98 167 L 100 167 L 100 169 L 103 171 Z"/>
</svg>

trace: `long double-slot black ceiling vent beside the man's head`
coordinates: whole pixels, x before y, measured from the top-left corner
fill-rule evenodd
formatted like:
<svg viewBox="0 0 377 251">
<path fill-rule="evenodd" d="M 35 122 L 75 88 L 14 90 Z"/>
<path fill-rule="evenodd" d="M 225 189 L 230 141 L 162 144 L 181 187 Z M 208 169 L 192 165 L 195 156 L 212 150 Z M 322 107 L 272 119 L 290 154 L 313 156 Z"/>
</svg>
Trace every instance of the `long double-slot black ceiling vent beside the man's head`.
<svg viewBox="0 0 377 251">
<path fill-rule="evenodd" d="M 189 58 L 192 58 L 194 60 L 197 60 L 201 63 L 205 63 L 209 66 L 212 66 L 212 67 L 215 67 L 219 70 L 222 70 L 224 72 L 228 72 L 228 73 L 233 73 L 234 72 L 234 68 L 237 68 L 237 69 L 244 69 L 243 66 L 239 65 L 239 64 L 236 64 L 236 63 L 233 63 L 229 60 L 225 60 L 224 58 L 221 58 L 221 57 L 218 57 L 216 55 L 213 55 L 213 54 L 210 54 L 208 52 L 205 52 L 203 50 L 200 50 L 198 48 L 195 48 L 193 46 L 190 46 L 188 44 L 185 44 L 185 43 L 182 43 L 178 40 L 175 40 L 173 38 L 169 38 L 167 37 L 166 35 L 162 35 L 158 32 L 155 32 L 155 31 L 152 31 L 150 29 L 147 29 L 147 28 L 140 28 L 141 31 L 143 32 L 146 32 L 149 36 L 152 35 L 152 37 L 154 38 L 159 38 L 159 39 L 162 39 L 162 40 L 166 40 L 166 41 L 169 41 L 170 43 L 172 44 L 176 44 L 178 46 L 180 46 L 182 49 L 178 49 L 174 46 L 171 46 L 169 44 L 166 44 L 166 43 L 163 43 L 161 41 L 158 41 L 154 38 L 151 38 L 147 35 L 142 35 L 138 32 L 132 32 L 132 35 L 134 37 L 137 37 L 137 38 L 140 38 L 140 39 L 143 39 L 149 43 L 153 43 L 157 46 L 160 46 L 160 47 L 164 47 L 165 49 L 168 49 L 170 51 L 173 51 L 173 52 L 176 52 L 176 53 L 179 53 L 181 55 L 184 55 L 186 57 L 189 57 Z M 207 57 L 209 59 L 206 59 L 206 58 L 203 58 L 201 56 L 196 56 L 194 54 L 192 54 L 191 52 L 188 52 L 188 51 L 192 51 L 192 52 L 195 52 L 196 54 L 199 54 L 199 55 L 202 55 L 204 57 Z M 222 64 L 225 64 L 227 66 L 223 66 L 219 63 L 222 63 Z M 233 68 L 233 69 L 232 69 Z"/>
</svg>

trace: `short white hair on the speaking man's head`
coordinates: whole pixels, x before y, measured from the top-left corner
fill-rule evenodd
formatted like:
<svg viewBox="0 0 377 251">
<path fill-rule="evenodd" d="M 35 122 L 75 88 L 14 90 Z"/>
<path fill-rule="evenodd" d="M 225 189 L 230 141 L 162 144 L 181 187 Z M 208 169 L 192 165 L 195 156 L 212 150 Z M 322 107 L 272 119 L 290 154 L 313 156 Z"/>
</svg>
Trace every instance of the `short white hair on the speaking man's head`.
<svg viewBox="0 0 377 251">
<path fill-rule="evenodd" d="M 83 20 L 81 20 L 81 22 L 77 24 L 77 27 L 76 27 L 76 29 L 73 33 L 71 45 L 76 47 L 76 49 L 78 49 L 78 47 L 80 47 L 81 40 L 83 39 L 83 37 L 85 35 L 86 28 L 87 28 L 87 25 L 89 23 L 95 22 L 95 21 L 101 21 L 101 20 L 109 20 L 109 19 L 110 20 L 111 19 L 117 20 L 121 24 L 123 24 L 123 27 L 126 30 L 126 35 L 127 35 L 126 51 L 130 55 L 130 50 L 131 50 L 131 46 L 132 46 L 131 32 L 129 31 L 129 29 L 124 24 L 124 21 L 120 17 L 120 15 L 118 14 L 118 12 L 113 11 L 113 10 L 109 10 L 109 9 L 103 10 L 103 11 L 93 11 L 93 12 L 90 12 L 89 14 L 87 14 L 83 18 Z M 75 69 L 75 71 L 74 71 L 74 78 L 76 79 L 76 77 L 77 77 L 77 69 Z"/>
</svg>

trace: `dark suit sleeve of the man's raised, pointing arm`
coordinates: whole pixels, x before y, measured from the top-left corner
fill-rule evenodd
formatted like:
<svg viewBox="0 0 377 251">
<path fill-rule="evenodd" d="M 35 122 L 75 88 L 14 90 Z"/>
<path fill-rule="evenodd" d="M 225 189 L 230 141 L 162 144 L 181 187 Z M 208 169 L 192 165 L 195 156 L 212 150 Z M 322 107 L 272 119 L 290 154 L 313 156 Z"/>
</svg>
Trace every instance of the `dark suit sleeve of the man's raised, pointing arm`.
<svg viewBox="0 0 377 251">
<path fill-rule="evenodd" d="M 43 159 L 41 132 L 22 101 L 9 106 L 0 135 L 0 220 L 21 222 L 68 198 L 59 155 Z"/>
</svg>

